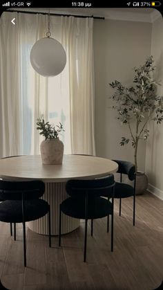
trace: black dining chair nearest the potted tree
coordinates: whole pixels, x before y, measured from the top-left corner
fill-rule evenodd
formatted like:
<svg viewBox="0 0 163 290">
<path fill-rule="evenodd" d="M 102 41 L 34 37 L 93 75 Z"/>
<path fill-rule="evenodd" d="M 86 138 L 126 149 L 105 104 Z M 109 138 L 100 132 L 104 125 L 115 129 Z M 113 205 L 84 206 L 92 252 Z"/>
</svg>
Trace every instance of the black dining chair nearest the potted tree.
<svg viewBox="0 0 163 290">
<path fill-rule="evenodd" d="M 119 199 L 119 216 L 121 215 L 122 199 L 127 197 L 133 197 L 133 226 L 135 226 L 135 185 L 136 185 L 135 165 L 128 161 L 122 160 L 113 160 L 113 161 L 115 161 L 118 164 L 117 173 L 120 174 L 120 182 L 115 182 L 115 195 L 114 195 L 115 199 Z M 127 175 L 128 179 L 133 181 L 133 186 L 122 182 L 122 174 Z M 108 190 L 108 194 L 104 194 L 103 196 L 109 198 L 111 196 L 111 193 Z"/>
</svg>

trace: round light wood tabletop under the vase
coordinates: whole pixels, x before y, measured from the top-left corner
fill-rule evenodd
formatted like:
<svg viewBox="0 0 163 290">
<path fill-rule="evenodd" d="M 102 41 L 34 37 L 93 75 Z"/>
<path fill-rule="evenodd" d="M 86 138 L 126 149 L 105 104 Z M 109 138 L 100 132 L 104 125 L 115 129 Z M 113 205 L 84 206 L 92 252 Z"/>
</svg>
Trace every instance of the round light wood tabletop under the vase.
<svg viewBox="0 0 163 290">
<path fill-rule="evenodd" d="M 16 156 L 0 160 L 0 176 L 10 180 L 41 179 L 66 182 L 69 179 L 94 179 L 117 171 L 117 163 L 106 158 L 64 155 L 61 165 L 44 165 L 40 155 Z"/>
</svg>

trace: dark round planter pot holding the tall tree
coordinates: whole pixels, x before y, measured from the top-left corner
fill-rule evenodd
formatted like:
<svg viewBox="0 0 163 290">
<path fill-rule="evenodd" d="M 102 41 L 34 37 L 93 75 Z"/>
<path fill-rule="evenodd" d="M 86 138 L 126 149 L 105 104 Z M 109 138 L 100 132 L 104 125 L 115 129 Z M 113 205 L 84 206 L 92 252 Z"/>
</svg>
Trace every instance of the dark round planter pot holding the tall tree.
<svg viewBox="0 0 163 290">
<path fill-rule="evenodd" d="M 143 194 L 148 188 L 148 177 L 144 172 L 136 173 L 136 195 Z"/>
</svg>

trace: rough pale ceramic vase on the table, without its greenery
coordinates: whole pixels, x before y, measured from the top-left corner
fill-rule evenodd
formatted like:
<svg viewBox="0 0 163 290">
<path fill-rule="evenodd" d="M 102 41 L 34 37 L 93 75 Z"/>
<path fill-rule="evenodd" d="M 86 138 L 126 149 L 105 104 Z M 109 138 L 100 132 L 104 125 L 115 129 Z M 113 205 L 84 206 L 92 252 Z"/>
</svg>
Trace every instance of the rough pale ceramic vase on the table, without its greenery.
<svg viewBox="0 0 163 290">
<path fill-rule="evenodd" d="M 43 164 L 61 164 L 64 156 L 64 144 L 59 138 L 46 139 L 41 142 L 41 159 Z"/>
</svg>

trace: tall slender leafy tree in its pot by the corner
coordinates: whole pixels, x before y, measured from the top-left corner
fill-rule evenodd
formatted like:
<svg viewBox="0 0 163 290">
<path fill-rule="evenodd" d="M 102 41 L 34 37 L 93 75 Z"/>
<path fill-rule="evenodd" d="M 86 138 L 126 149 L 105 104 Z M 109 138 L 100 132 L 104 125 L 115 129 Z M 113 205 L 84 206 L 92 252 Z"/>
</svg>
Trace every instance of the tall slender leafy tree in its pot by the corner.
<svg viewBox="0 0 163 290">
<path fill-rule="evenodd" d="M 116 89 L 111 98 L 116 102 L 113 108 L 117 110 L 117 119 L 128 126 L 130 134 L 130 138 L 122 137 L 120 145 L 124 146 L 131 142 L 134 148 L 137 194 L 142 193 L 148 185 L 146 176 L 142 177 L 142 174 L 137 170 L 137 148 L 140 139 L 146 141 L 148 138 L 147 123 L 149 120 L 154 120 L 157 124 L 160 124 L 163 120 L 163 97 L 157 96 L 157 82 L 153 79 L 154 70 L 153 56 L 151 55 L 142 66 L 134 68 L 134 87 L 125 87 L 117 80 L 110 84 L 113 89 Z M 144 179 L 144 181 L 140 181 L 143 186 L 142 189 L 139 188 L 140 179 Z M 147 181 L 146 185 L 144 185 L 145 179 Z"/>
</svg>

